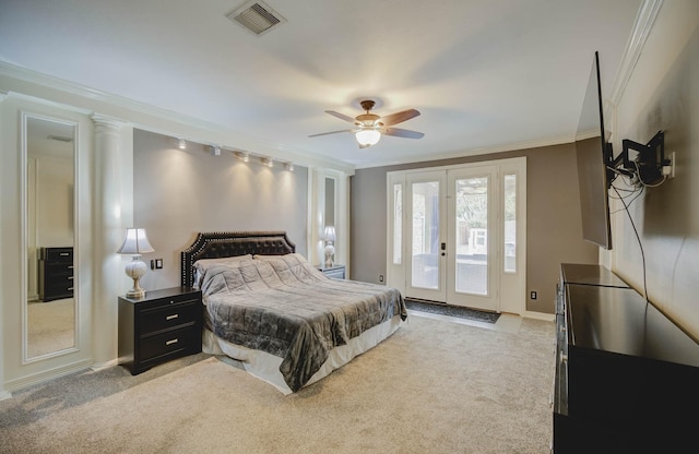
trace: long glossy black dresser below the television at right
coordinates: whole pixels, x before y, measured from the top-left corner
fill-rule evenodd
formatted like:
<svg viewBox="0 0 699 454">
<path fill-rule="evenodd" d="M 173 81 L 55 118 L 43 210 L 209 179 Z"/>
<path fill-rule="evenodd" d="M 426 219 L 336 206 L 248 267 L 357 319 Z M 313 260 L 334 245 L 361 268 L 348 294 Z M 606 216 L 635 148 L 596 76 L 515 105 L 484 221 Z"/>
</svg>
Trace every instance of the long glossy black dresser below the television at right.
<svg viewBox="0 0 699 454">
<path fill-rule="evenodd" d="M 556 454 L 697 450 L 699 344 L 657 308 L 602 266 L 564 264 L 556 332 Z"/>
</svg>

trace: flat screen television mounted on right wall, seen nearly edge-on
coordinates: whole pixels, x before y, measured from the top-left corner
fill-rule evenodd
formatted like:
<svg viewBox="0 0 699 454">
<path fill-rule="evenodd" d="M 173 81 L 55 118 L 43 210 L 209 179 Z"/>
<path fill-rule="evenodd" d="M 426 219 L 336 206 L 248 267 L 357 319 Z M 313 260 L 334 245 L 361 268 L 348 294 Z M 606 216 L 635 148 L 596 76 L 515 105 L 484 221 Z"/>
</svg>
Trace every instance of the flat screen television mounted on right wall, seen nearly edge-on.
<svg viewBox="0 0 699 454">
<path fill-rule="evenodd" d="M 612 162 L 612 147 L 607 143 L 604 129 L 599 52 L 594 53 L 582 103 L 576 133 L 576 155 L 582 237 L 604 249 L 612 249 L 608 199 L 611 181 L 607 172 Z"/>
</svg>

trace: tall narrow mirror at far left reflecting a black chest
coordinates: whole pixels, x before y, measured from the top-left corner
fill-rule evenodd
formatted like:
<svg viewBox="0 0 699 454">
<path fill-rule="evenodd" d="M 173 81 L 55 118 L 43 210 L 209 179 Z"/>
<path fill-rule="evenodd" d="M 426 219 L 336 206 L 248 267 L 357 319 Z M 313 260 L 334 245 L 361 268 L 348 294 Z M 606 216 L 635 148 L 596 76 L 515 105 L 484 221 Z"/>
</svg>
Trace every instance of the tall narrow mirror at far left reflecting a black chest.
<svg viewBox="0 0 699 454">
<path fill-rule="evenodd" d="M 75 347 L 76 124 L 23 115 L 26 162 L 25 360 Z"/>
</svg>

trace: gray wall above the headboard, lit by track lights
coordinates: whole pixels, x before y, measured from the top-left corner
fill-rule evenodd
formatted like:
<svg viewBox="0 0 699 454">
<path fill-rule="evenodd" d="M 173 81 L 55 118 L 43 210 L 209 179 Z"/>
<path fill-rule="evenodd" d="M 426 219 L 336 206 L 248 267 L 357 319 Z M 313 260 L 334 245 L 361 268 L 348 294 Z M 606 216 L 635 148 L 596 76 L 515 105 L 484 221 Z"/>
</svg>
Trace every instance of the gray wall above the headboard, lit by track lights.
<svg viewBox="0 0 699 454">
<path fill-rule="evenodd" d="M 191 142 L 182 151 L 175 139 L 142 130 L 133 133 L 133 168 L 134 224 L 155 249 L 143 261 L 164 260 L 143 277 L 146 290 L 179 285 L 180 251 L 199 231 L 286 230 L 307 255 L 307 168 L 269 168 L 254 157 L 246 164 L 225 151 L 212 156 Z"/>
</svg>

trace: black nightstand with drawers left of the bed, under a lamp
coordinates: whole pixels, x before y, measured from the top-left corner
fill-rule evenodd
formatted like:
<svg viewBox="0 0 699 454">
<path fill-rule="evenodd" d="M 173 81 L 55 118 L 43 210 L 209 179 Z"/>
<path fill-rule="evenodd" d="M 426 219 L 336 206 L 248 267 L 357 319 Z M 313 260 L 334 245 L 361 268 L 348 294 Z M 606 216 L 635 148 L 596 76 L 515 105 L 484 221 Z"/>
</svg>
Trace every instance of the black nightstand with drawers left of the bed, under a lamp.
<svg viewBox="0 0 699 454">
<path fill-rule="evenodd" d="M 201 290 L 173 287 L 119 297 L 119 363 L 131 374 L 201 351 Z"/>
</svg>

